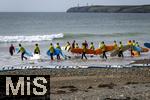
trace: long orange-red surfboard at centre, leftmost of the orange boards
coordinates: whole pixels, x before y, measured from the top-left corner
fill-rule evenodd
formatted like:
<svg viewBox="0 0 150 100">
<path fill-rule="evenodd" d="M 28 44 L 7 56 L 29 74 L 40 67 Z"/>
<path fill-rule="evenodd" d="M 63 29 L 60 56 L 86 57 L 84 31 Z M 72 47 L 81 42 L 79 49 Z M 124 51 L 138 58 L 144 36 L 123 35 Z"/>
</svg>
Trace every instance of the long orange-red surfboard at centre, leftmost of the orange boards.
<svg viewBox="0 0 150 100">
<path fill-rule="evenodd" d="M 77 53 L 77 54 L 82 54 L 83 49 L 82 48 L 74 48 L 74 49 L 71 49 L 71 52 Z M 95 51 L 91 50 L 91 49 L 86 49 L 86 54 L 95 54 Z"/>
</svg>

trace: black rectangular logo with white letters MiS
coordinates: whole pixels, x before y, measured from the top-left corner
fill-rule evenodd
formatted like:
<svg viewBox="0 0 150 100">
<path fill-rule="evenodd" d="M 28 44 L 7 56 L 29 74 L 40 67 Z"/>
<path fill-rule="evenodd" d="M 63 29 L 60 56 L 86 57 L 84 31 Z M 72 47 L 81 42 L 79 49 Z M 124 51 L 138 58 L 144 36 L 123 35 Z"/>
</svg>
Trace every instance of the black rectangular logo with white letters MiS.
<svg viewBox="0 0 150 100">
<path fill-rule="evenodd" d="M 0 99 L 49 99 L 49 75 L 1 75 Z"/>
</svg>

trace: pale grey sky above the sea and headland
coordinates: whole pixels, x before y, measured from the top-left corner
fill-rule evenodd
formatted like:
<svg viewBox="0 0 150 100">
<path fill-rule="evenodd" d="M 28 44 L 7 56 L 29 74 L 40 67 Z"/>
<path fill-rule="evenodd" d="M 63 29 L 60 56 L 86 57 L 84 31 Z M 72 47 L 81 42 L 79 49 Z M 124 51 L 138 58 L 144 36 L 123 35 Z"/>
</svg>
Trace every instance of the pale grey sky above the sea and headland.
<svg viewBox="0 0 150 100">
<path fill-rule="evenodd" d="M 85 5 L 141 5 L 150 0 L 0 0 L 0 12 L 65 12 Z"/>
</svg>

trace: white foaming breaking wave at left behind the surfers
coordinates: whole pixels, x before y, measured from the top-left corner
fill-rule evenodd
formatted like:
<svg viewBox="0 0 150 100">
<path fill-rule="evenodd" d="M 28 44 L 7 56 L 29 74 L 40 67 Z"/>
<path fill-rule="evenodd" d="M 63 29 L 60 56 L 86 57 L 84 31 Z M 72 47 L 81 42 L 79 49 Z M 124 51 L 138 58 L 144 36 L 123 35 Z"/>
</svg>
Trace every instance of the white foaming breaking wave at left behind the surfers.
<svg viewBox="0 0 150 100">
<path fill-rule="evenodd" d="M 37 42 L 63 38 L 64 34 L 32 35 L 32 36 L 0 36 L 0 42 Z"/>
</svg>

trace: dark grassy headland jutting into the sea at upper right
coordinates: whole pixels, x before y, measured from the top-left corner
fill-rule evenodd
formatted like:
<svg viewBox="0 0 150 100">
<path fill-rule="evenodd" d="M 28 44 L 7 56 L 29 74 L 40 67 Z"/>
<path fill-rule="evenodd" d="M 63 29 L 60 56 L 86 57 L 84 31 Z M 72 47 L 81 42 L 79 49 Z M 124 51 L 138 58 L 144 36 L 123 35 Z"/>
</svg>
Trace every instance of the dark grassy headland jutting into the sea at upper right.
<svg viewBox="0 0 150 100">
<path fill-rule="evenodd" d="M 134 5 L 134 6 L 82 6 L 72 7 L 67 10 L 68 13 L 72 12 L 96 12 L 96 13 L 150 13 L 150 5 Z"/>
</svg>

